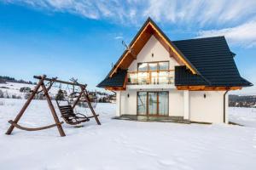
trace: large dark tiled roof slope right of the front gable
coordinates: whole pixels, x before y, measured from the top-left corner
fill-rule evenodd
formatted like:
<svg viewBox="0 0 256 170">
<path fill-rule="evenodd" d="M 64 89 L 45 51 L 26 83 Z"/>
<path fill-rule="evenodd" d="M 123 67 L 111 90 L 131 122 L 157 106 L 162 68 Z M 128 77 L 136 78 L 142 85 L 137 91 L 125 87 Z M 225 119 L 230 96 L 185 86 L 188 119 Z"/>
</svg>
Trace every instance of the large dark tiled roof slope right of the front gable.
<svg viewBox="0 0 256 170">
<path fill-rule="evenodd" d="M 206 37 L 173 41 L 176 47 L 195 65 L 208 86 L 252 86 L 242 78 L 236 68 L 233 53 L 224 37 Z M 183 70 L 179 74 L 183 74 Z M 190 73 L 191 74 L 191 73 Z M 190 75 L 189 80 L 194 75 Z M 194 76 L 195 77 L 195 76 Z M 187 77 L 184 77 L 188 79 Z M 187 80 L 177 80 L 177 84 L 189 85 Z M 195 82 L 193 82 L 195 83 Z M 191 84 L 193 85 L 193 84 Z"/>
</svg>

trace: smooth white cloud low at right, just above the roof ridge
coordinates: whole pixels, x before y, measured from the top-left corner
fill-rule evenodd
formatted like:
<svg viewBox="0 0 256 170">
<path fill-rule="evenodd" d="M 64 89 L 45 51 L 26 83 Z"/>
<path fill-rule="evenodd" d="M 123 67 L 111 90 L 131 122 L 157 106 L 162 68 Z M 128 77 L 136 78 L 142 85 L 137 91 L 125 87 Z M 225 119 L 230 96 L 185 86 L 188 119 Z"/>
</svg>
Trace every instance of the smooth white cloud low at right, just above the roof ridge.
<svg viewBox="0 0 256 170">
<path fill-rule="evenodd" d="M 248 21 L 241 26 L 220 30 L 199 31 L 199 37 L 225 36 L 234 45 L 243 47 L 256 46 L 256 20 Z"/>
</svg>

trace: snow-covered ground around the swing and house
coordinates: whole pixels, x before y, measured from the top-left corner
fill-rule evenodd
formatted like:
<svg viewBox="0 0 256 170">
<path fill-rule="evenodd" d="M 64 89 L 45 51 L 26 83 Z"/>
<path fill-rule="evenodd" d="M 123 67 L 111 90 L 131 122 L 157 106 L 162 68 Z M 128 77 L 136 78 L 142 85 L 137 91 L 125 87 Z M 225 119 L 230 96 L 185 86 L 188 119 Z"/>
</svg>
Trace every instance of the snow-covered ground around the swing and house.
<svg viewBox="0 0 256 170">
<path fill-rule="evenodd" d="M 33 100 L 20 124 L 38 127 L 53 122 L 46 101 Z M 230 108 L 225 124 L 177 124 L 113 120 L 115 105 L 98 104 L 101 126 L 64 125 L 5 135 L 24 99 L 0 99 L 0 169 L 256 169 L 256 111 Z M 85 113 L 84 109 L 79 111 Z M 57 111 L 57 110 L 56 110 Z M 89 113 L 89 111 L 87 111 Z"/>
</svg>

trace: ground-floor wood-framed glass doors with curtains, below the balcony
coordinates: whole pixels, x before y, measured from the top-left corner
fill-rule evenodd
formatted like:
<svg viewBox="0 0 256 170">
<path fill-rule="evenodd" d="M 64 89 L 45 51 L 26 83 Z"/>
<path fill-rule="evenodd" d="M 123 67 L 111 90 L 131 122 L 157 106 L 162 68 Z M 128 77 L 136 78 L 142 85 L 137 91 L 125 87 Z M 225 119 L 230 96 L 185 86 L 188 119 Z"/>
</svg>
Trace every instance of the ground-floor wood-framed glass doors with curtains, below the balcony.
<svg viewBox="0 0 256 170">
<path fill-rule="evenodd" d="M 168 116 L 168 92 L 138 92 L 137 115 Z"/>
</svg>

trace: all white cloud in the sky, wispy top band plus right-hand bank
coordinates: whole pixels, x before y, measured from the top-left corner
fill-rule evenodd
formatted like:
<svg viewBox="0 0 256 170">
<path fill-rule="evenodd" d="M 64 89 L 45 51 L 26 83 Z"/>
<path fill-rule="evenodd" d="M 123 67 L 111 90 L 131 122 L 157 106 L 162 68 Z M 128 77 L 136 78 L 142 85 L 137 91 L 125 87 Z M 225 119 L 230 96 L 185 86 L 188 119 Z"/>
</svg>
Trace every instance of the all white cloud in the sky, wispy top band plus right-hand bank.
<svg viewBox="0 0 256 170">
<path fill-rule="evenodd" d="M 255 46 L 256 0 L 0 0 L 49 10 L 77 14 L 93 20 L 141 26 L 152 17 L 167 26 L 198 29 L 199 36 L 225 35 L 230 42 Z M 212 30 L 209 30 L 211 28 Z"/>
</svg>

